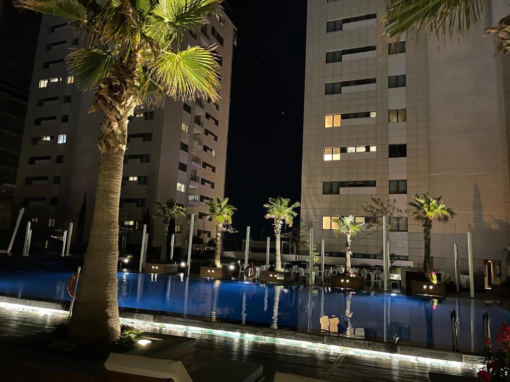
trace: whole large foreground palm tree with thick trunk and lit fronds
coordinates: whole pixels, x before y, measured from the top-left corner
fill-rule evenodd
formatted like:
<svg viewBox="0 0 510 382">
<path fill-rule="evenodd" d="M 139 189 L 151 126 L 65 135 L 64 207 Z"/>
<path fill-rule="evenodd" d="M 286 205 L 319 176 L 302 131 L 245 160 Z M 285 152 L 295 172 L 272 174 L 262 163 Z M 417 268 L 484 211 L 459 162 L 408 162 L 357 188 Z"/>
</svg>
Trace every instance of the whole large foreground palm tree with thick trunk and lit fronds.
<svg viewBox="0 0 510 382">
<path fill-rule="evenodd" d="M 74 83 L 94 92 L 89 113 L 102 111 L 100 163 L 80 293 L 69 334 L 113 342 L 120 335 L 117 235 L 127 123 L 139 105 L 166 96 L 219 96 L 210 48 L 181 48 L 220 0 L 15 0 L 19 8 L 60 16 L 87 41 L 66 62 Z"/>
</svg>

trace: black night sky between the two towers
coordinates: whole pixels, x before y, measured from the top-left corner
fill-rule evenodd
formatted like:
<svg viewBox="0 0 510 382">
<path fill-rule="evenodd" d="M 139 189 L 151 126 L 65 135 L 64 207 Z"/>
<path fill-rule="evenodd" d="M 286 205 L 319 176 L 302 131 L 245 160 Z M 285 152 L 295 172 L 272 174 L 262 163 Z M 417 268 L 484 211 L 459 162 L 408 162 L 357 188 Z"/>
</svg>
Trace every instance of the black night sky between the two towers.
<svg viewBox="0 0 510 382">
<path fill-rule="evenodd" d="M 225 197 L 238 208 L 233 225 L 239 242 L 247 225 L 253 240 L 261 239 L 262 229 L 264 239 L 272 235 L 263 207 L 269 197 L 300 200 L 307 2 L 228 3 L 238 43 Z"/>
</svg>

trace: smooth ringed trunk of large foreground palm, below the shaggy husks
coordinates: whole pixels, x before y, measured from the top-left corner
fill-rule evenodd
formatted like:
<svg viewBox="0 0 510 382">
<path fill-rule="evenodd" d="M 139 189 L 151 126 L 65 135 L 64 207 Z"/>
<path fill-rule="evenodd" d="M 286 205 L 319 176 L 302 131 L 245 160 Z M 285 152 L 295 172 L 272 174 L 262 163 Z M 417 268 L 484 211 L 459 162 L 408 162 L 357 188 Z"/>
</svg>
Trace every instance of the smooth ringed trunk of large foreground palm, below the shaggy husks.
<svg viewBox="0 0 510 382">
<path fill-rule="evenodd" d="M 117 305 L 119 197 L 123 155 L 101 158 L 89 244 L 69 334 L 113 342 L 120 336 Z"/>
</svg>

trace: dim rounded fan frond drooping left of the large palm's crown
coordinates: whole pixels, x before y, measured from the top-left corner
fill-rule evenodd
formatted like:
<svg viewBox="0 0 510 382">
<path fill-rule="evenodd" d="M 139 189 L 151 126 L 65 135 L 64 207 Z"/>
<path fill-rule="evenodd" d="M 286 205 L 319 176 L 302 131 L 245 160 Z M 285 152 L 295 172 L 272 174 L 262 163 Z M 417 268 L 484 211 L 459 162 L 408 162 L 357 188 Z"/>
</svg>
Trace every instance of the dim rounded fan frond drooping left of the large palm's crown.
<svg viewBox="0 0 510 382">
<path fill-rule="evenodd" d="M 77 86 L 93 90 L 101 79 L 108 77 L 115 59 L 109 51 L 83 48 L 68 54 L 66 61 Z"/>
</svg>

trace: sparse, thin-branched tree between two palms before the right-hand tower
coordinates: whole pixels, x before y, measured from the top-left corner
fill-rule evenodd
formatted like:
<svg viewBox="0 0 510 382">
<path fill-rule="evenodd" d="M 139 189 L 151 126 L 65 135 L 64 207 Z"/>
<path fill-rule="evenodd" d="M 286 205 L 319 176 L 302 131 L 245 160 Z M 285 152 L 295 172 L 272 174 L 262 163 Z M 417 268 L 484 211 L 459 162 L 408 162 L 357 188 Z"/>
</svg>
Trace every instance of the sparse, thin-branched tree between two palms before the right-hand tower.
<svg viewBox="0 0 510 382">
<path fill-rule="evenodd" d="M 409 206 L 400 208 L 397 206 L 395 199 L 382 200 L 380 198 L 370 198 L 372 204 L 361 206 L 365 216 L 370 216 L 370 219 L 365 219 L 366 228 L 373 231 L 374 233 L 382 232 L 383 224 L 382 217 L 388 217 L 388 224 L 386 225 L 388 241 L 392 242 L 391 239 L 391 227 L 400 224 L 409 214 Z"/>
</svg>

